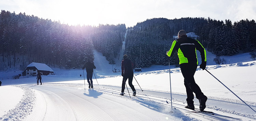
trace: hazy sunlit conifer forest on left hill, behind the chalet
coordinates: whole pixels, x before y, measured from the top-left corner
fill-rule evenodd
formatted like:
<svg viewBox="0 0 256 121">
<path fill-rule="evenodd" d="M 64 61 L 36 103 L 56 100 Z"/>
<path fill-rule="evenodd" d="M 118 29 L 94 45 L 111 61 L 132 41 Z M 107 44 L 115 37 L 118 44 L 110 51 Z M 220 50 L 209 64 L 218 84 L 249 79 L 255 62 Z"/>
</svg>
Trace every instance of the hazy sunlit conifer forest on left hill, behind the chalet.
<svg viewBox="0 0 256 121">
<path fill-rule="evenodd" d="M 19 65 L 21 70 L 32 62 L 80 68 L 88 58 L 94 60 L 94 47 L 114 63 L 112 58 L 122 46 L 125 31 L 125 24 L 69 26 L 60 21 L 2 10 L 0 55 L 3 63 L 0 68 L 15 67 L 16 61 L 23 64 Z"/>
</svg>

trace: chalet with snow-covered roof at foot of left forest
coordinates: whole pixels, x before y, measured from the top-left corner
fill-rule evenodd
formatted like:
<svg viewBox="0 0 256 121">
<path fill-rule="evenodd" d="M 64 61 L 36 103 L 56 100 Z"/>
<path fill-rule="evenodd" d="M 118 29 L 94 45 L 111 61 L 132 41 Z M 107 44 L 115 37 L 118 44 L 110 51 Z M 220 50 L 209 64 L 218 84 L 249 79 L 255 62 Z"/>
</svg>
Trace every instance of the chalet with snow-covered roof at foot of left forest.
<svg viewBox="0 0 256 121">
<path fill-rule="evenodd" d="M 53 69 L 46 64 L 33 62 L 27 66 L 27 68 L 22 72 L 22 75 L 37 75 L 37 71 L 39 71 L 43 75 L 49 75 L 54 73 Z"/>
</svg>

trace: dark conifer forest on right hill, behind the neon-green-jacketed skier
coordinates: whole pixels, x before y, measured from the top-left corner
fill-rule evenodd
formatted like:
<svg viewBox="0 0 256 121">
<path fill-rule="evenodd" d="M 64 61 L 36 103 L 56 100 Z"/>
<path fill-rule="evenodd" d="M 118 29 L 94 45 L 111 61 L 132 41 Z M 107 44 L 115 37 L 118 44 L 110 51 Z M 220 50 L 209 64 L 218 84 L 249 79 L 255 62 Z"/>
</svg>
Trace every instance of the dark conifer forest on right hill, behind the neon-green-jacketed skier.
<svg viewBox="0 0 256 121">
<path fill-rule="evenodd" d="M 136 68 L 153 64 L 168 65 L 165 52 L 180 30 L 194 32 L 200 43 L 217 56 L 230 56 L 239 52 L 252 52 L 256 48 L 256 23 L 254 20 L 213 20 L 211 18 L 154 18 L 128 28 L 125 53 Z M 171 65 L 178 65 L 177 57 L 170 58 Z"/>
</svg>

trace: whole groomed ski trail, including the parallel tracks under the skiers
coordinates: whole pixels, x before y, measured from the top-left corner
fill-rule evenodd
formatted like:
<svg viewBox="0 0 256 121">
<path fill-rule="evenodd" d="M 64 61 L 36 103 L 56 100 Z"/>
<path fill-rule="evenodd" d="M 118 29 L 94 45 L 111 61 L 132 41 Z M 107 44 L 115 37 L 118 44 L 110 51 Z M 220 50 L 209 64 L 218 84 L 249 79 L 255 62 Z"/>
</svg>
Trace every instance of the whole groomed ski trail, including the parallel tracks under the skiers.
<svg viewBox="0 0 256 121">
<path fill-rule="evenodd" d="M 82 84 L 43 84 L 27 85 L 36 94 L 33 111 L 25 121 L 163 121 L 163 120 L 209 120 L 230 121 L 240 118 L 244 121 L 253 120 L 227 112 L 206 108 L 220 116 L 209 114 L 188 113 L 186 105 L 179 100 L 173 100 L 171 108 L 168 93 L 137 89 L 136 97 L 131 98 L 125 90 L 125 96 L 119 96 L 120 87 L 94 85 L 93 89 Z M 131 92 L 131 89 L 129 88 Z M 183 95 L 173 95 L 173 98 Z M 166 103 L 166 101 L 169 102 Z M 216 100 L 208 99 L 208 103 Z M 217 102 L 219 103 L 219 102 Z M 227 103 L 227 107 L 242 104 Z M 175 108 L 175 109 L 174 109 Z M 198 106 L 196 106 L 198 108 Z M 238 113 L 239 114 L 239 113 Z"/>
</svg>

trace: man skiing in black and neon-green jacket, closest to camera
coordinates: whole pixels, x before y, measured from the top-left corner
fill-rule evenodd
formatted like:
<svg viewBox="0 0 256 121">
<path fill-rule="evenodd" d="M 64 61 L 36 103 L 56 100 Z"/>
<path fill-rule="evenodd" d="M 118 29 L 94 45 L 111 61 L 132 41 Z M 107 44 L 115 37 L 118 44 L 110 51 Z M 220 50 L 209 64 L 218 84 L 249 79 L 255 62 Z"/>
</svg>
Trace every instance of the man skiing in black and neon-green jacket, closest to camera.
<svg viewBox="0 0 256 121">
<path fill-rule="evenodd" d="M 198 40 L 187 37 L 186 31 L 184 30 L 179 31 L 178 39 L 173 41 L 171 49 L 167 51 L 166 54 L 170 57 L 173 55 L 174 51 L 177 51 L 179 56 L 180 68 L 184 77 L 184 85 L 187 92 L 187 106 L 185 106 L 185 108 L 195 110 L 193 101 L 194 92 L 196 98 L 200 102 L 200 111 L 203 111 L 206 107 L 205 102 L 207 101 L 207 97 L 202 93 L 194 79 L 194 74 L 198 65 L 196 49 L 199 50 L 202 58 L 200 68 L 204 70 L 206 67 L 206 51 Z"/>
</svg>

